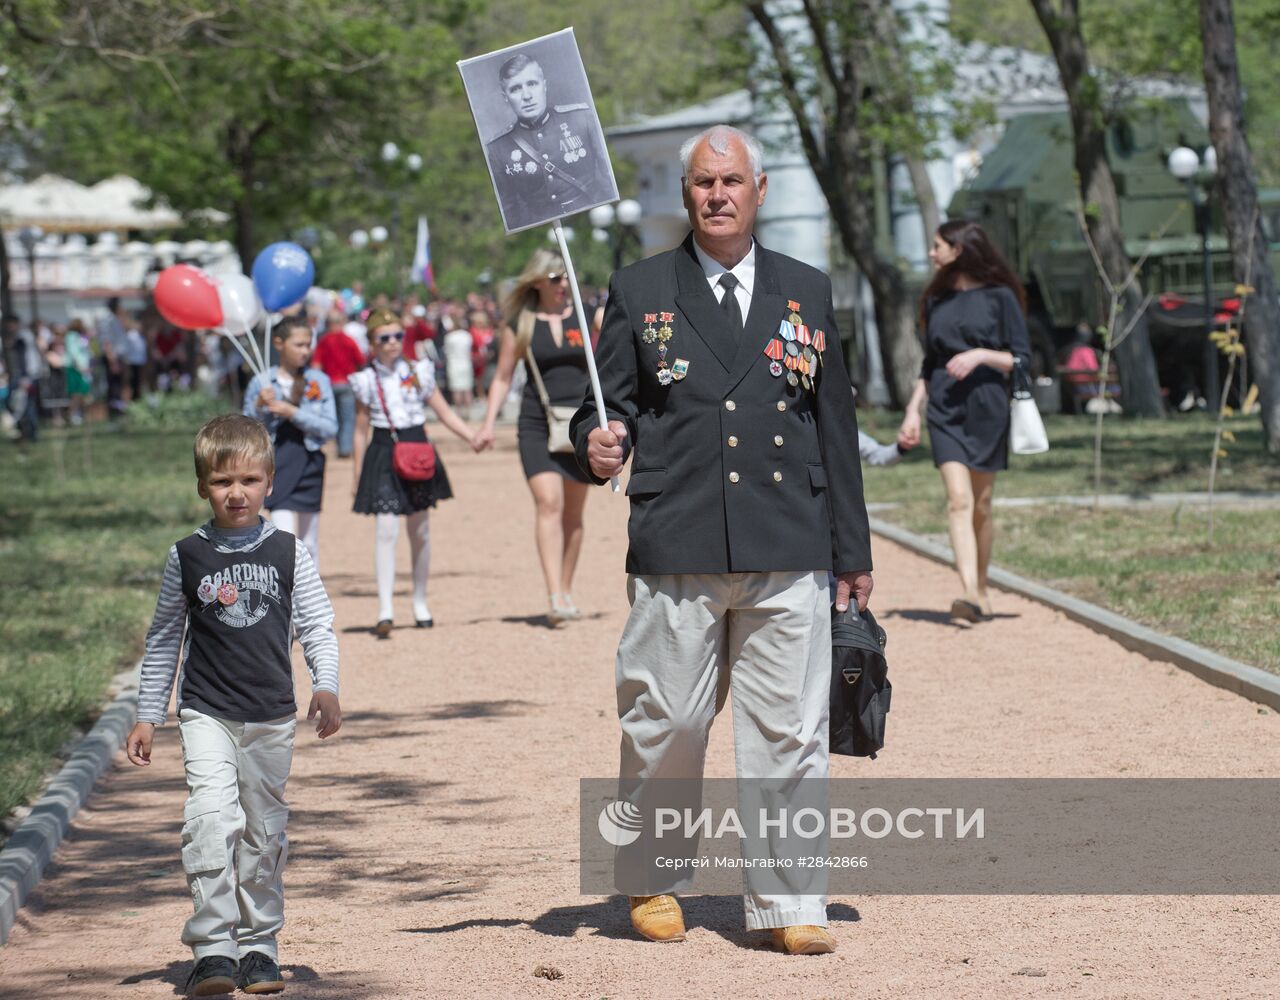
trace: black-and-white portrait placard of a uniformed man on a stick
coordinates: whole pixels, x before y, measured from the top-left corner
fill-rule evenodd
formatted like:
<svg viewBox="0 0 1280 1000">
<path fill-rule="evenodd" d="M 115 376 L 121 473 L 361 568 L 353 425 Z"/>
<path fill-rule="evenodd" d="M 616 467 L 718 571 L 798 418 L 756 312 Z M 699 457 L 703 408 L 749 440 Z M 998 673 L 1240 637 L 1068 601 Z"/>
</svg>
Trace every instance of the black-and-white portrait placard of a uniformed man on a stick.
<svg viewBox="0 0 1280 1000">
<path fill-rule="evenodd" d="M 618 200 L 573 29 L 458 63 L 508 233 Z"/>
</svg>

